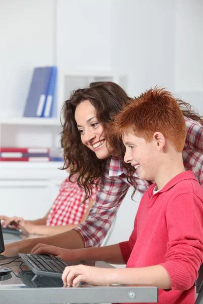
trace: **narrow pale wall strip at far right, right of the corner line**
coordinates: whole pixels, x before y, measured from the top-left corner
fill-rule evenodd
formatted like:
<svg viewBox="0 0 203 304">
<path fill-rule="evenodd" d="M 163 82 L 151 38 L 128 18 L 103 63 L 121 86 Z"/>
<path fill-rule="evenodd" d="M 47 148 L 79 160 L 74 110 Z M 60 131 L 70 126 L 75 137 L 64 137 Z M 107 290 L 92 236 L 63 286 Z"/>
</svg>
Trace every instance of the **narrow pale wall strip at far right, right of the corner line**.
<svg viewBox="0 0 203 304">
<path fill-rule="evenodd" d="M 174 92 L 203 115 L 203 2 L 176 2 Z"/>
</svg>

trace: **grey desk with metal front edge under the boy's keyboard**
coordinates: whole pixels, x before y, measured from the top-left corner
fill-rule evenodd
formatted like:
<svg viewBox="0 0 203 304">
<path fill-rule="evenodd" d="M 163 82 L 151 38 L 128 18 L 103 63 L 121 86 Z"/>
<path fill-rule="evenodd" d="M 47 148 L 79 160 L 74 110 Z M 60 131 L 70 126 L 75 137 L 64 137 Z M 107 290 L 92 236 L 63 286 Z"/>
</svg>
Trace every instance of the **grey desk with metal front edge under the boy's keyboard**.
<svg viewBox="0 0 203 304">
<path fill-rule="evenodd" d="M 6 236 L 7 241 L 16 241 L 19 236 Z M 10 238 L 10 240 L 9 240 Z M 1 258 L 0 263 L 12 261 L 13 258 Z M 91 264 L 94 262 L 91 262 Z M 141 285 L 94 286 L 80 283 L 77 287 L 63 286 L 61 279 L 37 277 L 31 281 L 34 274 L 19 261 L 8 264 L 13 273 L 0 277 L 1 304 L 61 304 L 61 303 L 110 303 L 110 302 L 152 302 L 158 301 L 158 288 Z M 95 267 L 112 268 L 111 265 L 98 261 Z"/>
</svg>

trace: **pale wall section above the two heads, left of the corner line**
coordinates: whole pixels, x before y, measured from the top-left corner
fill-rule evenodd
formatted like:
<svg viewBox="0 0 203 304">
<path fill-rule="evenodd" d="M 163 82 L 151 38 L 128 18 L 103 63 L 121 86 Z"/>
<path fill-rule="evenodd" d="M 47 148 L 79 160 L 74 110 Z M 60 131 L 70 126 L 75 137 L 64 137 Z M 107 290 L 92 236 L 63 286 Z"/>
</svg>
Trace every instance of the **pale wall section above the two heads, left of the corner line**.
<svg viewBox="0 0 203 304">
<path fill-rule="evenodd" d="M 175 1 L 113 0 L 112 65 L 128 76 L 128 93 L 157 84 L 173 89 Z"/>
</svg>

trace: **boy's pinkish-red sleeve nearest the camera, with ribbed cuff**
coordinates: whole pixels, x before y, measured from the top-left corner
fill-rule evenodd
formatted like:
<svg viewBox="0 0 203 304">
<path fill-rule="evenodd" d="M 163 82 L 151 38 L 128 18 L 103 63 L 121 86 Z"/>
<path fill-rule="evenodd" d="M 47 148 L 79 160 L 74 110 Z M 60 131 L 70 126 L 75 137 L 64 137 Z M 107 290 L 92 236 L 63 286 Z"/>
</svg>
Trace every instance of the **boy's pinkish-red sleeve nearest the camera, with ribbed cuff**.
<svg viewBox="0 0 203 304">
<path fill-rule="evenodd" d="M 168 243 L 161 265 L 170 275 L 173 290 L 187 290 L 197 279 L 203 260 L 202 214 L 202 201 L 192 192 L 168 204 Z"/>
</svg>

